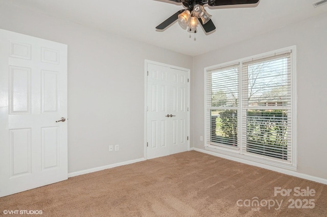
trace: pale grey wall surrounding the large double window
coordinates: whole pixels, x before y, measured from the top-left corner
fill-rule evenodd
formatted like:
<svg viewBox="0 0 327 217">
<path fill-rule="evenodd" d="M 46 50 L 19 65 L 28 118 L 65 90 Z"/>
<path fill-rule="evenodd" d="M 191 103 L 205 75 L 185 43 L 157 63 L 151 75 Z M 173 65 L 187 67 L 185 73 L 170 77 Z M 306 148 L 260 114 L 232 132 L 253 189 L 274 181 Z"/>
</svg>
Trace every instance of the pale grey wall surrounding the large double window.
<svg viewBox="0 0 327 217">
<path fill-rule="evenodd" d="M 236 33 L 237 34 L 237 33 Z M 240 36 L 241 37 L 241 36 Z M 203 149 L 203 68 L 297 46 L 297 151 L 299 174 L 327 180 L 327 14 L 194 57 L 192 71 L 191 134 L 194 148 Z"/>
</svg>

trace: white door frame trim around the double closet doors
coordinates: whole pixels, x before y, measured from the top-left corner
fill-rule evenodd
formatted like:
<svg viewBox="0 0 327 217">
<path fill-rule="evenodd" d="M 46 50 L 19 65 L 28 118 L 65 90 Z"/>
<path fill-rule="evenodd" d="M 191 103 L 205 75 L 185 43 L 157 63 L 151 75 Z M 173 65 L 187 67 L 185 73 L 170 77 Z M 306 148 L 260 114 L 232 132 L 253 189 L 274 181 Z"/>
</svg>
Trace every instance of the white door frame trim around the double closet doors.
<svg viewBox="0 0 327 217">
<path fill-rule="evenodd" d="M 144 61 L 144 84 L 145 84 L 145 88 L 144 88 L 144 157 L 147 160 L 148 159 L 148 154 L 147 154 L 147 105 L 148 105 L 148 64 L 152 63 L 152 64 L 156 64 L 156 65 L 161 65 L 161 66 L 166 66 L 166 67 L 170 67 L 170 68 L 176 68 L 179 70 L 183 70 L 183 71 L 187 71 L 188 73 L 188 151 L 190 151 L 190 75 L 191 75 L 191 70 L 189 68 L 183 68 L 183 67 L 179 67 L 179 66 L 174 66 L 174 65 L 169 65 L 169 64 L 165 64 L 165 63 L 160 63 L 160 62 L 155 62 L 155 61 L 151 61 L 151 60 L 145 60 Z"/>
</svg>

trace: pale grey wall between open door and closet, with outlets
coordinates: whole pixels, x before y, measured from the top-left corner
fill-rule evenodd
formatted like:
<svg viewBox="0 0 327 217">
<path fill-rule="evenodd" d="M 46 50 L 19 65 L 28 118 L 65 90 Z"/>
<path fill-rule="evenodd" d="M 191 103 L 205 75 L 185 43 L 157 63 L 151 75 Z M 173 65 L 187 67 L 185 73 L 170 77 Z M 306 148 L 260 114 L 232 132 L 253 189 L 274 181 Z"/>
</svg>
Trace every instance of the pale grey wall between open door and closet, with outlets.
<svg viewBox="0 0 327 217">
<path fill-rule="evenodd" d="M 192 67 L 190 56 L 4 2 L 0 28 L 68 44 L 68 173 L 143 158 L 145 59 Z"/>
</svg>

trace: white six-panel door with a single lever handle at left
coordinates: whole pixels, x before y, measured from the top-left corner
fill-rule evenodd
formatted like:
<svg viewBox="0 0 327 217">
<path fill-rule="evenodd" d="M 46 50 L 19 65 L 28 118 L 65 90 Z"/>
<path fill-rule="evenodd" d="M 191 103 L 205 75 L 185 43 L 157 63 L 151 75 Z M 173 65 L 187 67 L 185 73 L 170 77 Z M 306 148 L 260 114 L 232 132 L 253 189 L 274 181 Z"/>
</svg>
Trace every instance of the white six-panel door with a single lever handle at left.
<svg viewBox="0 0 327 217">
<path fill-rule="evenodd" d="M 0 30 L 0 197 L 67 179 L 67 45 Z"/>
</svg>

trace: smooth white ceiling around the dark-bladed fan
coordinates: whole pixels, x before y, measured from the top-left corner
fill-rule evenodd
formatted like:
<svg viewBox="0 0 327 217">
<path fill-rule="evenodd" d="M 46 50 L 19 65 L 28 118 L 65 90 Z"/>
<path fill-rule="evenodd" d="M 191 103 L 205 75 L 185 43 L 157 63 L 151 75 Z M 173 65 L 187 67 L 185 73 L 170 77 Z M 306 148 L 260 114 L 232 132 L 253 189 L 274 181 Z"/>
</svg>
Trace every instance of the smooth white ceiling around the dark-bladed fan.
<svg viewBox="0 0 327 217">
<path fill-rule="evenodd" d="M 198 32 L 190 34 L 178 22 L 161 32 L 155 29 L 172 14 L 184 9 L 181 3 L 168 0 L 1 1 L 190 56 L 327 12 L 327 4 L 313 7 L 312 3 L 317 0 L 261 0 L 257 7 L 247 8 L 206 5 L 207 12 L 213 15 L 216 30 L 205 34 L 198 26 Z"/>
</svg>

